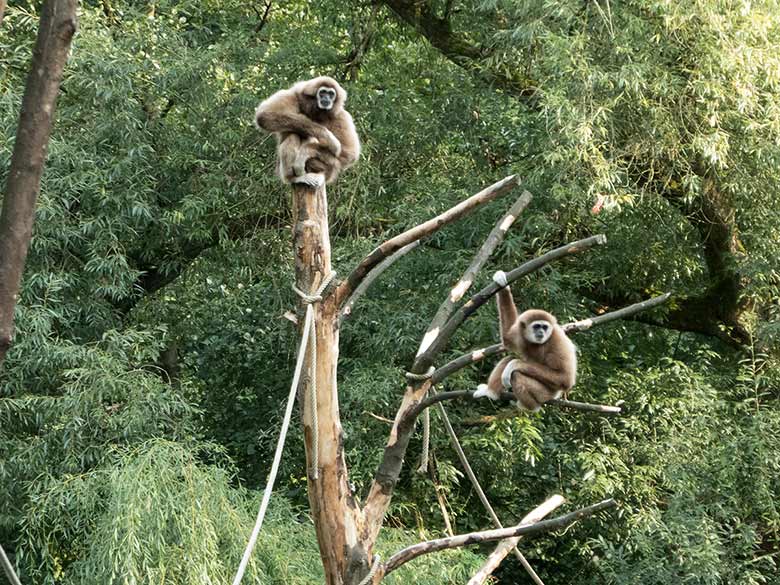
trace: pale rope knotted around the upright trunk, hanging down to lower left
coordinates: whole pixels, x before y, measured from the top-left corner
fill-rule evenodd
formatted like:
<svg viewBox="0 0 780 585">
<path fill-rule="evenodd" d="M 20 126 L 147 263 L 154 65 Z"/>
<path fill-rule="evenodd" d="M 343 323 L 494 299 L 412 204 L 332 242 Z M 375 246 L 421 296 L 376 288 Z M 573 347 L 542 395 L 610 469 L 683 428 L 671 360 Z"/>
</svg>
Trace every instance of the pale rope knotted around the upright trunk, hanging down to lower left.
<svg viewBox="0 0 780 585">
<path fill-rule="evenodd" d="M 233 578 L 233 585 L 239 585 L 241 583 L 241 579 L 244 578 L 244 572 L 246 571 L 246 566 L 249 564 L 249 559 L 252 556 L 252 551 L 255 548 L 255 544 L 257 544 L 257 537 L 260 534 L 260 528 L 263 526 L 263 519 L 265 518 L 265 513 L 268 510 L 268 503 L 271 500 L 271 491 L 273 490 L 274 482 L 276 481 L 276 474 L 279 472 L 279 463 L 282 460 L 282 450 L 284 449 L 284 441 L 287 438 L 287 431 L 290 428 L 292 409 L 293 409 L 293 405 L 295 404 L 295 393 L 298 390 L 298 385 L 300 384 L 301 372 L 303 372 L 303 362 L 306 356 L 306 347 L 307 345 L 309 345 L 312 337 L 315 334 L 314 308 L 312 307 L 312 303 L 316 303 L 322 300 L 322 293 L 330 284 L 330 281 L 333 280 L 334 276 L 336 276 L 336 273 L 331 272 L 325 278 L 325 280 L 322 281 L 322 284 L 314 293 L 314 295 L 307 295 L 305 293 L 302 293 L 295 287 L 295 285 L 293 285 L 293 290 L 295 290 L 295 292 L 297 292 L 298 295 L 303 299 L 303 302 L 308 305 L 306 307 L 306 319 L 303 322 L 303 334 L 301 335 L 301 344 L 298 347 L 298 358 L 295 361 L 295 373 L 293 374 L 292 384 L 290 384 L 290 393 L 287 396 L 287 406 L 285 407 L 284 410 L 284 419 L 282 421 L 282 428 L 279 431 L 279 440 L 276 443 L 276 451 L 274 452 L 273 463 L 271 463 L 271 471 L 268 474 L 268 481 L 266 482 L 265 490 L 263 491 L 263 499 L 260 502 L 260 509 L 257 511 L 257 519 L 255 520 L 255 527 L 252 529 L 252 535 L 249 537 L 249 542 L 246 545 L 246 550 L 244 550 L 244 556 L 241 557 L 241 564 L 239 564 L 238 570 L 236 571 L 236 576 Z M 309 362 L 310 362 L 309 367 L 313 371 L 314 359 L 312 354 L 310 354 L 309 356 Z M 312 385 L 314 385 L 313 377 L 312 377 Z M 314 419 L 316 420 L 316 413 L 317 413 L 316 402 L 312 404 L 312 407 L 313 407 L 312 412 L 314 412 Z M 312 425 L 312 427 L 314 427 L 314 424 Z M 316 453 L 317 453 L 316 434 L 314 435 L 314 453 L 316 458 Z"/>
</svg>

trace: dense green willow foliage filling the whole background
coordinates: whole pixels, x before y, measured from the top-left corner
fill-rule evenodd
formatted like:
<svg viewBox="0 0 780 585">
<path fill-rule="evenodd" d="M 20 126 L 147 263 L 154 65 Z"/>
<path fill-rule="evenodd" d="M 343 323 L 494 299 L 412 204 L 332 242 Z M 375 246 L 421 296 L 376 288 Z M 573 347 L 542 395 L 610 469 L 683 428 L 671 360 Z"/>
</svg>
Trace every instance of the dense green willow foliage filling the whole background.
<svg viewBox="0 0 780 585">
<path fill-rule="evenodd" d="M 577 335 L 573 397 L 622 400 L 624 416 L 447 408 L 506 523 L 552 493 L 571 507 L 619 500 L 616 513 L 523 544 L 547 582 L 776 582 L 777 3 L 432 5 L 480 44 L 476 69 L 363 3 L 274 3 L 262 26 L 262 6 L 235 0 L 82 3 L 0 387 L 0 542 L 24 582 L 231 578 L 298 343 L 282 318 L 296 302 L 288 195 L 251 113 L 297 79 L 348 71 L 364 155 L 329 189 L 341 276 L 386 237 L 514 172 L 533 203 L 475 286 L 604 232 L 607 246 L 518 283 L 518 303 L 562 321 L 665 290 L 679 306 L 711 285 L 691 214 L 711 195 L 703 177 L 717 178 L 754 346 L 610 324 Z M 3 181 L 37 6 L 10 2 L 0 27 Z M 537 100 L 474 71 L 530 82 Z M 344 322 L 339 400 L 358 495 L 427 322 L 508 205 L 427 240 Z M 496 341 L 486 306 L 442 362 Z M 473 388 L 492 365 L 441 389 Z M 383 558 L 441 534 L 445 513 L 459 532 L 489 526 L 432 419 L 432 471 L 411 471 L 418 434 Z M 248 582 L 322 582 L 300 433 L 287 445 Z M 387 581 L 464 582 L 487 550 L 428 555 Z M 525 577 L 509 558 L 499 579 Z"/>
</svg>

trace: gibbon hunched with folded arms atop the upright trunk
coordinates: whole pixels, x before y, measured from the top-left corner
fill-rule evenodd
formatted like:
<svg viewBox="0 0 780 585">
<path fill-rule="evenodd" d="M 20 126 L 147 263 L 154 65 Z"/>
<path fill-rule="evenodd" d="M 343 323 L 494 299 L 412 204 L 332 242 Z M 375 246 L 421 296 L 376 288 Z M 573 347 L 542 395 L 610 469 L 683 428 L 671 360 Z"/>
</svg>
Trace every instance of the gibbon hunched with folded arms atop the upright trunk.
<svg viewBox="0 0 780 585">
<path fill-rule="evenodd" d="M 347 92 L 331 77 L 299 81 L 255 110 L 255 124 L 276 136 L 277 168 L 285 183 L 332 183 L 360 156 L 360 139 L 344 109 Z"/>
</svg>

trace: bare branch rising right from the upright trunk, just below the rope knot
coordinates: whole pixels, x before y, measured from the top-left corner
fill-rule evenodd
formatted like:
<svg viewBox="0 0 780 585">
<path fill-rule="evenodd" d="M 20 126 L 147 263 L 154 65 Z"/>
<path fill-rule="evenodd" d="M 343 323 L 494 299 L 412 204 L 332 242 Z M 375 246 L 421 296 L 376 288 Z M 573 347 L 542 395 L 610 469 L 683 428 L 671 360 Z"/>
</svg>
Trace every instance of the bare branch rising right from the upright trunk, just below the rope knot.
<svg viewBox="0 0 780 585">
<path fill-rule="evenodd" d="M 382 260 L 393 254 L 396 250 L 400 250 L 407 244 L 411 244 L 417 240 L 429 236 L 432 233 L 440 230 L 446 225 L 449 225 L 466 215 L 472 213 L 481 205 L 492 201 L 493 199 L 500 197 L 501 195 L 508 193 L 519 184 L 519 179 L 516 175 L 510 175 L 505 179 L 491 185 L 487 189 L 480 191 L 476 195 L 472 195 L 465 201 L 461 201 L 456 206 L 448 209 L 444 213 L 441 213 L 429 219 L 425 223 L 421 223 L 411 229 L 406 230 L 402 234 L 390 238 L 385 243 L 375 248 L 368 256 L 363 258 L 352 273 L 347 277 L 345 281 L 339 284 L 336 289 L 336 302 L 341 306 L 344 301 L 352 294 L 357 286 L 363 281 L 366 275 Z"/>
</svg>

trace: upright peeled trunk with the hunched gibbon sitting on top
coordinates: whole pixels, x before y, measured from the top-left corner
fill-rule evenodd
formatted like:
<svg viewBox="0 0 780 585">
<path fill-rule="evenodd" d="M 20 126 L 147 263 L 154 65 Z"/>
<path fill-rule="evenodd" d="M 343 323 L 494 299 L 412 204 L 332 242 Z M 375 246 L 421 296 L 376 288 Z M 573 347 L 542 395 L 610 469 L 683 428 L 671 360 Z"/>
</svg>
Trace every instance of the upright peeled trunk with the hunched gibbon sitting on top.
<svg viewBox="0 0 780 585">
<path fill-rule="evenodd" d="M 328 204 L 325 187 L 293 188 L 293 245 L 296 286 L 315 291 L 331 272 Z M 334 294 L 314 304 L 317 363 L 317 440 L 312 429 L 311 376 L 301 385 L 309 505 L 328 585 L 356 585 L 370 568 L 370 545 L 362 530 L 360 508 L 349 489 L 336 387 L 338 306 Z M 303 319 L 299 319 L 303 323 Z M 308 366 L 307 366 L 307 370 Z M 312 461 L 317 449 L 317 475 Z"/>
</svg>

